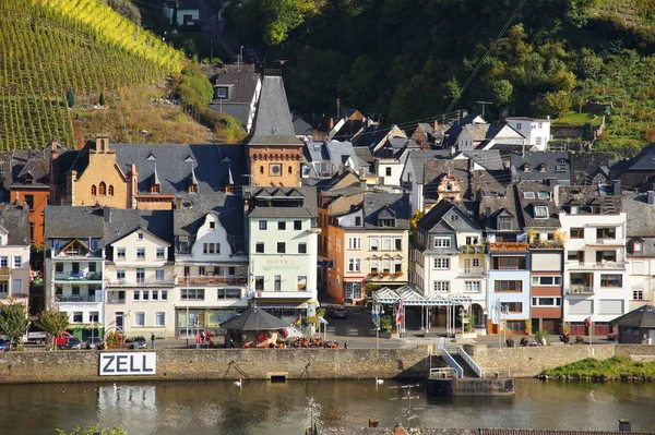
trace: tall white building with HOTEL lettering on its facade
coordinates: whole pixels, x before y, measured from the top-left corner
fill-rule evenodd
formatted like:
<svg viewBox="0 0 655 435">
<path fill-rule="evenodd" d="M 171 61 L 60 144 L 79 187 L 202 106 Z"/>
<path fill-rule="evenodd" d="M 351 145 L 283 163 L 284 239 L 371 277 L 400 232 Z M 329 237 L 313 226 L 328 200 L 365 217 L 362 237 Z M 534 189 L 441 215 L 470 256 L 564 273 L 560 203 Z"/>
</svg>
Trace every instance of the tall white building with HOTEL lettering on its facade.
<svg viewBox="0 0 655 435">
<path fill-rule="evenodd" d="M 318 303 L 317 192 L 312 188 L 251 188 L 245 195 L 252 303 L 294 322 Z"/>
</svg>

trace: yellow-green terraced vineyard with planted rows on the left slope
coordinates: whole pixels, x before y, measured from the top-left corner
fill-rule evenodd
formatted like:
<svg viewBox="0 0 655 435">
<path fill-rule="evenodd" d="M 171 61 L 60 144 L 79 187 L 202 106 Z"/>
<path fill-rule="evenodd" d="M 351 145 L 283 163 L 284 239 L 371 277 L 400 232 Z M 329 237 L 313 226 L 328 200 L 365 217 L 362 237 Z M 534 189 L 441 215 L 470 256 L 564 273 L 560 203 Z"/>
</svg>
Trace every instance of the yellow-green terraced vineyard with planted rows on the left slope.
<svg viewBox="0 0 655 435">
<path fill-rule="evenodd" d="M 0 0 L 0 150 L 73 145 L 66 94 L 155 83 L 183 55 L 97 0 Z"/>
</svg>

